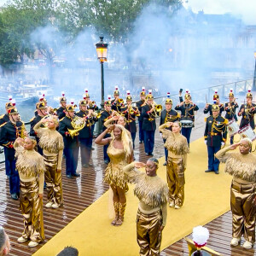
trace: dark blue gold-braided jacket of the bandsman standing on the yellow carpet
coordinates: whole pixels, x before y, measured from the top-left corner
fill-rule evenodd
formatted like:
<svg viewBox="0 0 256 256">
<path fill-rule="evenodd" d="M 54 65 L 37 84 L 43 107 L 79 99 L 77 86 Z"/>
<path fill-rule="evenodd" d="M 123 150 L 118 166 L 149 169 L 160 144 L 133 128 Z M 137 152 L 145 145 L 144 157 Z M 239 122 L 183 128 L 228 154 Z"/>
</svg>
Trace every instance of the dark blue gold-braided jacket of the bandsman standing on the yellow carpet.
<svg viewBox="0 0 256 256">
<path fill-rule="evenodd" d="M 206 119 L 205 140 L 208 147 L 220 147 L 227 139 L 228 120 L 218 115 L 215 119 L 212 115 Z"/>
</svg>

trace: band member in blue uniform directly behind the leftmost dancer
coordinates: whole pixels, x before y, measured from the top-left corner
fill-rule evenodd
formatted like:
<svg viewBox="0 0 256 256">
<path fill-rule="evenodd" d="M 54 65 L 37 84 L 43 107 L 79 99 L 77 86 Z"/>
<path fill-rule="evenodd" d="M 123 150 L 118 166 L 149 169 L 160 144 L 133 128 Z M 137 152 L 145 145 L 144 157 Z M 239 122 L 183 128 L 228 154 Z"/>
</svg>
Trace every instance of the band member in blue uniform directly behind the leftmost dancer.
<svg viewBox="0 0 256 256">
<path fill-rule="evenodd" d="M 18 200 L 20 195 L 20 178 L 16 170 L 14 143 L 17 137 L 26 137 L 26 128 L 20 121 L 17 108 L 9 108 L 9 121 L 0 128 L 0 144 L 6 148 L 6 158 L 9 163 L 9 191 L 11 198 Z"/>
</svg>

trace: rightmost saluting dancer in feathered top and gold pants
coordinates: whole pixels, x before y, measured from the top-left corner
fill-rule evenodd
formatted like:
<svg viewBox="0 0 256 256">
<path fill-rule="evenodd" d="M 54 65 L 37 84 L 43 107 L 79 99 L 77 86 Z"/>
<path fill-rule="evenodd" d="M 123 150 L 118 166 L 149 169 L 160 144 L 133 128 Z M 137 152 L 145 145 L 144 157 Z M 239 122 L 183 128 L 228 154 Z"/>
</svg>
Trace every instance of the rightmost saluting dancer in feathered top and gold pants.
<svg viewBox="0 0 256 256">
<path fill-rule="evenodd" d="M 240 152 L 229 152 L 239 147 Z M 216 157 L 226 163 L 225 172 L 233 176 L 230 188 L 232 212 L 232 240 L 237 246 L 241 236 L 246 240 L 242 247 L 250 249 L 255 242 L 256 156 L 250 153 L 252 141 L 244 138 L 240 143 L 218 151 Z"/>
</svg>

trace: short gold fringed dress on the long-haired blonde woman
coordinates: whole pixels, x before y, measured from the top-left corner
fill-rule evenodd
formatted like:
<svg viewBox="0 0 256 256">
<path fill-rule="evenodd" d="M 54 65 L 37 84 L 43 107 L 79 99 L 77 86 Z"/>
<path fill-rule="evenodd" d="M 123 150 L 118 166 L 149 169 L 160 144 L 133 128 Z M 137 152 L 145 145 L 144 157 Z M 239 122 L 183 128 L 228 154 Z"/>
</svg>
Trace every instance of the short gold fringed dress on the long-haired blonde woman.
<svg viewBox="0 0 256 256">
<path fill-rule="evenodd" d="M 125 154 L 125 149 L 114 148 L 113 140 L 108 146 L 107 151 L 110 162 L 106 169 L 104 182 L 111 186 L 125 189 L 127 182 L 125 181 L 124 167 L 128 164 L 128 157 Z"/>
</svg>

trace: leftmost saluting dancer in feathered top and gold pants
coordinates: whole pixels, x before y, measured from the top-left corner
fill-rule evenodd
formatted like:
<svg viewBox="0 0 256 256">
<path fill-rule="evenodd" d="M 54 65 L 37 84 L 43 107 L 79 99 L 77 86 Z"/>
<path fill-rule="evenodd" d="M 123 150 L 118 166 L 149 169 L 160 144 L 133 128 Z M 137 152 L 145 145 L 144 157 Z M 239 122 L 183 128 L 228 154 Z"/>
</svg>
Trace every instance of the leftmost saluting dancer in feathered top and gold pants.
<svg viewBox="0 0 256 256">
<path fill-rule="evenodd" d="M 24 230 L 18 242 L 36 247 L 44 241 L 43 193 L 44 193 L 44 158 L 34 150 L 36 141 L 18 137 L 16 150 L 16 168 L 20 175 L 20 210 L 24 218 Z"/>
</svg>

